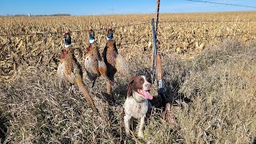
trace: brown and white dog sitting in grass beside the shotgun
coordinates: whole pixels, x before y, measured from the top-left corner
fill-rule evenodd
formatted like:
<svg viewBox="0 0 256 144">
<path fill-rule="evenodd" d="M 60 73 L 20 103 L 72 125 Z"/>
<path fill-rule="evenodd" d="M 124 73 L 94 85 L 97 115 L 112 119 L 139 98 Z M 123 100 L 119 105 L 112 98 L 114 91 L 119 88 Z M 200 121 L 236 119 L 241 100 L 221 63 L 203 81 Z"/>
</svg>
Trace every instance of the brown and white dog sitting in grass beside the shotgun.
<svg viewBox="0 0 256 144">
<path fill-rule="evenodd" d="M 149 93 L 151 84 L 146 80 L 144 75 L 135 76 L 128 84 L 126 102 L 124 103 L 124 116 L 126 134 L 130 134 L 130 119 L 140 118 L 138 127 L 138 137 L 143 138 L 143 126 L 145 123 L 146 113 L 150 110 L 151 104 L 148 99 L 153 96 Z"/>
</svg>

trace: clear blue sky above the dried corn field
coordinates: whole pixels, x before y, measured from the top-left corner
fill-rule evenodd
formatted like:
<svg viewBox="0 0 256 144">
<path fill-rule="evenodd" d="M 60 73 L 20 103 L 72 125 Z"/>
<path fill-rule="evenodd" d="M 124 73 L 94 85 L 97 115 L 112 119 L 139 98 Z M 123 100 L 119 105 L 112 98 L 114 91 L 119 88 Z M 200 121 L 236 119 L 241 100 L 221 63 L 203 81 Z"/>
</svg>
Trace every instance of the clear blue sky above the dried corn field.
<svg viewBox="0 0 256 144">
<path fill-rule="evenodd" d="M 205 0 L 255 6 L 256 0 Z M 154 13 L 156 0 L 2 0 L 0 15 L 6 14 L 145 14 Z M 193 13 L 256 10 L 186 0 L 161 0 L 160 13 Z"/>
</svg>

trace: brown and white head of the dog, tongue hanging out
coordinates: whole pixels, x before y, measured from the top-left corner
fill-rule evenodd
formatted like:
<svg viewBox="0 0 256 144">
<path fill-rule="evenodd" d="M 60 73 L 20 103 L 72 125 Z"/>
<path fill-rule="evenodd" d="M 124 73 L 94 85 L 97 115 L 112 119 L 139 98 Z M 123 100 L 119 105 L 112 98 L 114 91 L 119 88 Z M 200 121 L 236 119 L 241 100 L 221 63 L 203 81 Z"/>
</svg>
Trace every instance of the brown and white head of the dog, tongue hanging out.
<svg viewBox="0 0 256 144">
<path fill-rule="evenodd" d="M 141 94 L 143 98 L 152 99 L 153 96 L 149 93 L 150 89 L 151 84 L 146 80 L 144 75 L 135 76 L 128 84 L 127 96 L 130 97 L 133 91 L 135 91 L 138 94 Z"/>
</svg>

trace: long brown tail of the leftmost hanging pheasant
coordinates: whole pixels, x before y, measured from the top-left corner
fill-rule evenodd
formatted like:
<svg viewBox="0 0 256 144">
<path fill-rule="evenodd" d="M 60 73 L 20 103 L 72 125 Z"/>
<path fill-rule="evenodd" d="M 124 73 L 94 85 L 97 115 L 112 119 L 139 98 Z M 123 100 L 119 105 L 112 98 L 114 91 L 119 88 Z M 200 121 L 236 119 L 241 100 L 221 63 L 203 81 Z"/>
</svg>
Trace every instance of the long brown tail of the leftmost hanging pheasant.
<svg viewBox="0 0 256 144">
<path fill-rule="evenodd" d="M 82 78 L 75 78 L 75 81 L 78 84 L 79 89 L 82 91 L 82 94 L 86 97 L 86 101 L 90 103 L 90 106 L 94 110 L 94 113 L 97 113 L 96 106 L 94 104 L 94 100 L 90 97 L 88 90 L 86 89 L 85 84 L 82 82 Z"/>
</svg>

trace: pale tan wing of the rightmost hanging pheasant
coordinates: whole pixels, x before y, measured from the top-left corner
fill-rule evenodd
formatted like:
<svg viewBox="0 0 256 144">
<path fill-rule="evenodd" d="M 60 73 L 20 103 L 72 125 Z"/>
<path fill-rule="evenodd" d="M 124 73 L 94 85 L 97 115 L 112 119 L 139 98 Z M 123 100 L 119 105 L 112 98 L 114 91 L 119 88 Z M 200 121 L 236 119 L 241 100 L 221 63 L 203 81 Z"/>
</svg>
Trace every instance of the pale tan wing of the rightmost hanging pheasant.
<svg viewBox="0 0 256 144">
<path fill-rule="evenodd" d="M 117 58 L 115 59 L 115 68 L 117 69 L 119 74 L 122 74 L 122 76 L 128 77 L 130 74 L 128 63 L 121 54 L 118 54 Z"/>
</svg>

